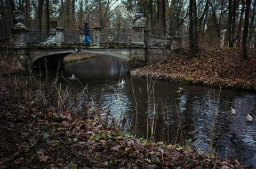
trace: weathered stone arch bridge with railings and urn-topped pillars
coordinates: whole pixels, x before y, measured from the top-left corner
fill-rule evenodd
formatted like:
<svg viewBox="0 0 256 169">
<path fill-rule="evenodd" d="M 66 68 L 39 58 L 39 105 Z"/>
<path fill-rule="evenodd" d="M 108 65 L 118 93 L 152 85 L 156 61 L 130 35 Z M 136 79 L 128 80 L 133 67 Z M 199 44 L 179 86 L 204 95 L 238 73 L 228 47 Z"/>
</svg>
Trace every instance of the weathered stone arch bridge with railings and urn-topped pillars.
<svg viewBox="0 0 256 169">
<path fill-rule="evenodd" d="M 12 38 L 1 40 L 0 46 L 3 50 L 12 49 L 12 55 L 25 66 L 28 61 L 33 66 L 38 66 L 39 62 L 45 64 L 45 61 L 54 65 L 68 54 L 90 52 L 120 57 L 132 67 L 168 59 L 173 50 L 181 47 L 178 36 L 153 36 L 147 32 L 145 24 L 138 22 L 131 29 L 92 29 L 90 38 L 92 43 L 83 43 L 81 30 L 29 31 L 18 22 L 13 27 Z"/>
</svg>

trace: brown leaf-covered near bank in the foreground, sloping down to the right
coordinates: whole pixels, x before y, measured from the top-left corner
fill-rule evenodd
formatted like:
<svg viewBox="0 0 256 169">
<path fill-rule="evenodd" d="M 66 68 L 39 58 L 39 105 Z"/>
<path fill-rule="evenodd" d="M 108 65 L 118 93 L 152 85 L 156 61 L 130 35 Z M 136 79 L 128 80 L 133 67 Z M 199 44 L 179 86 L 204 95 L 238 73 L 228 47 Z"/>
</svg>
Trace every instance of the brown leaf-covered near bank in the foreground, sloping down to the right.
<svg viewBox="0 0 256 169">
<path fill-rule="evenodd" d="M 142 142 L 68 111 L 42 109 L 4 85 L 0 168 L 248 168 L 195 149 Z"/>
</svg>

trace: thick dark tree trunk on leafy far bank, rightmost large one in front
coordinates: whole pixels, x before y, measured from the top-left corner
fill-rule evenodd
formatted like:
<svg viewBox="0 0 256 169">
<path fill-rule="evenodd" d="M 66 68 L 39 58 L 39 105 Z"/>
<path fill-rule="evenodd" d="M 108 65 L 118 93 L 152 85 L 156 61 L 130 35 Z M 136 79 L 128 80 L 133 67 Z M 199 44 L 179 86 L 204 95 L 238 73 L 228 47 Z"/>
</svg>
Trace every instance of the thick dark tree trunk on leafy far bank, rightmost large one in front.
<svg viewBox="0 0 256 169">
<path fill-rule="evenodd" d="M 243 44 L 242 56 L 243 56 L 244 60 L 248 59 L 246 42 L 247 42 L 247 34 L 248 34 L 248 26 L 249 26 L 250 5 L 251 5 L 251 0 L 246 0 L 245 17 L 244 17 L 244 30 L 243 30 L 243 42 L 242 42 L 242 44 Z"/>
</svg>

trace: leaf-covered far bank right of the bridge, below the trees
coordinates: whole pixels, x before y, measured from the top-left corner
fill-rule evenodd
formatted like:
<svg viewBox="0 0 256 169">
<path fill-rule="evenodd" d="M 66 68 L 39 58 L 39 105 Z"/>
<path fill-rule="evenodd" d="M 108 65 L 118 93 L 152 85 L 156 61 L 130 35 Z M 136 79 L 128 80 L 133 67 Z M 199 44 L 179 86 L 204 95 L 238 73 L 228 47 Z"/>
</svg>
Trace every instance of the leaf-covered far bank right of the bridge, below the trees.
<svg viewBox="0 0 256 169">
<path fill-rule="evenodd" d="M 243 61 L 239 48 L 201 48 L 196 57 L 187 50 L 168 61 L 131 71 L 131 75 L 185 84 L 256 91 L 256 50 Z"/>
</svg>

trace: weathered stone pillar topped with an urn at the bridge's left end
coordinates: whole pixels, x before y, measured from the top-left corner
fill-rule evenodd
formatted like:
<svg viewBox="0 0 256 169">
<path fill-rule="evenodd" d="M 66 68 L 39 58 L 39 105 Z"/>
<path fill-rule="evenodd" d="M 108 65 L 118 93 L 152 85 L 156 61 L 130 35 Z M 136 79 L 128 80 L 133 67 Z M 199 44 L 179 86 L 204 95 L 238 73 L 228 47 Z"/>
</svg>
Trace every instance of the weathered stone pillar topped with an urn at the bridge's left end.
<svg viewBox="0 0 256 169">
<path fill-rule="evenodd" d="M 12 55 L 19 59 L 20 64 L 22 66 L 28 68 L 28 64 L 30 62 L 29 54 L 28 54 L 28 42 L 29 42 L 29 30 L 24 26 L 21 21 L 23 20 L 23 15 L 21 11 L 15 10 L 13 11 L 13 15 L 15 16 L 15 20 L 17 24 L 12 27 L 13 32 L 13 50 Z"/>
</svg>

